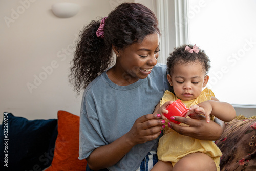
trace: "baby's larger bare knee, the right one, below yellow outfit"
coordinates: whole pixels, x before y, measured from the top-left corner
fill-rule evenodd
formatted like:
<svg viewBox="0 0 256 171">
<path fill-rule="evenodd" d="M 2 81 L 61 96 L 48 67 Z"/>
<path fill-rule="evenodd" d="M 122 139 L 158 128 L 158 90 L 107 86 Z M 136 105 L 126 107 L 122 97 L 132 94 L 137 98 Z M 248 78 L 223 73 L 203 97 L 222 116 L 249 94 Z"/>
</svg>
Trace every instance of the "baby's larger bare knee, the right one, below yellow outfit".
<svg viewBox="0 0 256 171">
<path fill-rule="evenodd" d="M 180 159 L 173 171 L 216 171 L 216 165 L 212 158 L 204 153 L 191 153 Z"/>
</svg>

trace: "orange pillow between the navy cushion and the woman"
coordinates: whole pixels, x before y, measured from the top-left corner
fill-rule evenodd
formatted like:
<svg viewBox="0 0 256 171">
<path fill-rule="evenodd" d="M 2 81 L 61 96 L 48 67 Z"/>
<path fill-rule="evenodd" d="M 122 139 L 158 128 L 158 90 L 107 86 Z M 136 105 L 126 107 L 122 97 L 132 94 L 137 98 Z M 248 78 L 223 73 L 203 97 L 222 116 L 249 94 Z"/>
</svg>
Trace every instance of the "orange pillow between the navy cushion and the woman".
<svg viewBox="0 0 256 171">
<path fill-rule="evenodd" d="M 86 159 L 78 159 L 79 116 L 58 111 L 58 136 L 52 164 L 46 171 L 86 170 Z"/>
</svg>

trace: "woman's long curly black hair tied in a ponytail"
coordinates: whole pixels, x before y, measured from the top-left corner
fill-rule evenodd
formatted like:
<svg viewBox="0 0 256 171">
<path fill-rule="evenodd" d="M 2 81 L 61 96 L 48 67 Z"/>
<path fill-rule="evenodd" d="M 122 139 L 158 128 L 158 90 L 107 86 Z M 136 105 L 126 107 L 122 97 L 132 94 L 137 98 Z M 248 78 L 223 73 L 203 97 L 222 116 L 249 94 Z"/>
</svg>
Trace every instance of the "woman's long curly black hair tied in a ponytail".
<svg viewBox="0 0 256 171">
<path fill-rule="evenodd" d="M 141 42 L 150 34 L 160 34 L 155 14 L 142 4 L 122 3 L 105 19 L 104 38 L 96 31 L 100 20 L 85 26 L 71 62 L 69 80 L 80 94 L 98 75 L 109 68 L 113 61 L 112 46 L 123 49 L 134 42 Z"/>
</svg>

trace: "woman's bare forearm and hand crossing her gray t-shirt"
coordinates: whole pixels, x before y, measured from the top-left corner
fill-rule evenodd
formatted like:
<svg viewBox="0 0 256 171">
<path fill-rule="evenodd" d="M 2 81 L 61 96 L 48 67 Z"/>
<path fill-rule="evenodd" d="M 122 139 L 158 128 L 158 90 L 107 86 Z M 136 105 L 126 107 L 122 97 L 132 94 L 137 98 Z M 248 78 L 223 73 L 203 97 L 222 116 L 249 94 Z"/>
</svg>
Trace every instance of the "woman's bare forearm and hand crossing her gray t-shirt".
<svg viewBox="0 0 256 171">
<path fill-rule="evenodd" d="M 148 114 L 138 118 L 132 129 L 114 142 L 100 146 L 86 158 L 93 170 L 110 167 L 116 164 L 136 144 L 156 139 L 163 124 L 159 114 Z"/>
</svg>

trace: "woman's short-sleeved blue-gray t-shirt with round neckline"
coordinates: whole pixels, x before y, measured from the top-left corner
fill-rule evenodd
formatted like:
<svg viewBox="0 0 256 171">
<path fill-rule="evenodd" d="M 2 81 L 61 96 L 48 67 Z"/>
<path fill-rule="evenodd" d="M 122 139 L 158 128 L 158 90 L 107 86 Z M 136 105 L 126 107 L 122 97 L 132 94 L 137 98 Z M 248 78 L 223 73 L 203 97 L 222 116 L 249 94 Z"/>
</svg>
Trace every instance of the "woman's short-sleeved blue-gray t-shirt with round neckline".
<svg viewBox="0 0 256 171">
<path fill-rule="evenodd" d="M 166 65 L 158 63 L 145 79 L 129 86 L 113 83 L 106 72 L 84 90 L 80 113 L 79 159 L 130 131 L 135 120 L 153 113 L 169 89 Z M 159 139 L 159 138 L 158 138 Z M 110 170 L 136 170 L 148 152 L 156 151 L 158 139 L 134 146 Z"/>
</svg>

